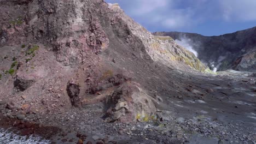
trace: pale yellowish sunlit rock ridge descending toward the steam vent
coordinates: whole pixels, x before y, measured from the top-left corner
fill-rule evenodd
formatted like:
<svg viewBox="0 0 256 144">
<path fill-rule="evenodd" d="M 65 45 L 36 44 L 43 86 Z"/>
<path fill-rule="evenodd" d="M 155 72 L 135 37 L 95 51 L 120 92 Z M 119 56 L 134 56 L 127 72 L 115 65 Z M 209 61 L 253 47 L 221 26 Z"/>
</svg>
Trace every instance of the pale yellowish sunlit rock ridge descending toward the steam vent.
<svg viewBox="0 0 256 144">
<path fill-rule="evenodd" d="M 172 64 L 173 61 L 183 62 L 190 65 L 196 70 L 204 71 L 206 69 L 199 59 L 193 53 L 179 46 L 170 37 L 156 37 L 149 33 L 147 29 L 134 22 L 129 16 L 125 15 L 124 11 L 118 5 L 111 7 L 112 10 L 117 11 L 118 14 L 113 15 L 112 25 L 118 23 L 118 19 L 122 19 L 126 24 L 125 29 L 129 33 L 137 37 L 143 44 L 145 52 L 148 53 L 146 59 L 153 59 L 153 61 L 160 61 L 161 63 Z M 133 44 L 132 35 L 129 34 L 125 37 L 126 43 Z M 176 67 L 178 67 L 176 65 Z"/>
</svg>

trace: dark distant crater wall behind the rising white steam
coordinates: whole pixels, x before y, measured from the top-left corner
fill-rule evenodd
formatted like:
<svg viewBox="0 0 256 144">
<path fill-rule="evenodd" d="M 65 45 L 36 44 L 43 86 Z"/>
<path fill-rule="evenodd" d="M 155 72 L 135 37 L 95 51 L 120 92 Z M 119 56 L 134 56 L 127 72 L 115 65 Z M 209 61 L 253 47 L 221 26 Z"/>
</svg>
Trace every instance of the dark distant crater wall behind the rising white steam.
<svg viewBox="0 0 256 144">
<path fill-rule="evenodd" d="M 195 33 L 156 32 L 156 35 L 168 35 L 173 39 L 188 40 L 198 52 L 198 58 L 209 67 L 218 67 L 219 71 L 235 69 L 256 71 L 256 27 L 213 37 Z"/>
</svg>

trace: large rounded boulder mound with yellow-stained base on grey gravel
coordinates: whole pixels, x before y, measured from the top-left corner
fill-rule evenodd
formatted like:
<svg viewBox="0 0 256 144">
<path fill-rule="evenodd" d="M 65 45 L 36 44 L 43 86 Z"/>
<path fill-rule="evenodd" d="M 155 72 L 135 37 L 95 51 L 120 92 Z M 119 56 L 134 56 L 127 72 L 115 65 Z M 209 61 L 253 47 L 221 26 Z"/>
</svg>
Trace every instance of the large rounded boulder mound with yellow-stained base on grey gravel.
<svg viewBox="0 0 256 144">
<path fill-rule="evenodd" d="M 108 98 L 106 122 L 133 122 L 136 116 L 150 117 L 156 112 L 152 98 L 135 82 L 125 82 Z"/>
</svg>

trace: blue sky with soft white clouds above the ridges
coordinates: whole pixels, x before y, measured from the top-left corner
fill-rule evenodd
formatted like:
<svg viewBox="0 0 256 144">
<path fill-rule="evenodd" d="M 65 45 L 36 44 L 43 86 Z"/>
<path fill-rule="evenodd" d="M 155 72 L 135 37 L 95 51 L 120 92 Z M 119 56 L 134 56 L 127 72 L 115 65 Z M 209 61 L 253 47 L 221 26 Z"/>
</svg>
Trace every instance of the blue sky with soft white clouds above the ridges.
<svg viewBox="0 0 256 144">
<path fill-rule="evenodd" d="M 256 26 L 256 0 L 106 0 L 150 32 L 221 35 Z"/>
</svg>

